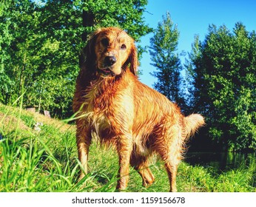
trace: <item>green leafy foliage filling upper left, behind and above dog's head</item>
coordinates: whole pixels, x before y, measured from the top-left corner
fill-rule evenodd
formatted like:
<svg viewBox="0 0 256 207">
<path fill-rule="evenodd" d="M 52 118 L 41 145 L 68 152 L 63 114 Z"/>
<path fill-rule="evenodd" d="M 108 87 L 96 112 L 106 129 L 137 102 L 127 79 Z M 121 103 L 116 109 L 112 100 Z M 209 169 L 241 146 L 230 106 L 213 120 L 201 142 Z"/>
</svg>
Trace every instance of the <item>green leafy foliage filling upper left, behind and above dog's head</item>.
<svg viewBox="0 0 256 207">
<path fill-rule="evenodd" d="M 136 41 L 149 33 L 142 17 L 145 0 L 8 0 L 0 3 L 0 101 L 13 103 L 24 91 L 24 105 L 52 115 L 72 114 L 78 55 L 84 33 L 119 26 Z M 92 24 L 84 24 L 90 11 Z"/>
</svg>

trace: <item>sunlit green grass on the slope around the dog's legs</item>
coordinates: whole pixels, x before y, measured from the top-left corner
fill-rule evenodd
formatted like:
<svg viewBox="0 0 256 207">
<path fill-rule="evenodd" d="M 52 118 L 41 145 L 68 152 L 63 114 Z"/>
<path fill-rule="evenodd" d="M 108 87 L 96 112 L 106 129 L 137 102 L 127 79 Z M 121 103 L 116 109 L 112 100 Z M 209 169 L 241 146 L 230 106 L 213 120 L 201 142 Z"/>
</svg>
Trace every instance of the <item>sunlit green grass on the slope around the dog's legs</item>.
<svg viewBox="0 0 256 207">
<path fill-rule="evenodd" d="M 41 131 L 34 124 L 43 123 Z M 115 191 L 118 157 L 112 149 L 90 148 L 90 173 L 77 182 L 79 162 L 75 126 L 0 104 L 0 191 Z M 155 183 L 141 186 L 141 177 L 130 169 L 127 191 L 169 191 L 161 161 L 152 166 Z M 218 174 L 213 169 L 181 163 L 178 191 L 256 191 L 255 162 L 249 167 Z"/>
</svg>

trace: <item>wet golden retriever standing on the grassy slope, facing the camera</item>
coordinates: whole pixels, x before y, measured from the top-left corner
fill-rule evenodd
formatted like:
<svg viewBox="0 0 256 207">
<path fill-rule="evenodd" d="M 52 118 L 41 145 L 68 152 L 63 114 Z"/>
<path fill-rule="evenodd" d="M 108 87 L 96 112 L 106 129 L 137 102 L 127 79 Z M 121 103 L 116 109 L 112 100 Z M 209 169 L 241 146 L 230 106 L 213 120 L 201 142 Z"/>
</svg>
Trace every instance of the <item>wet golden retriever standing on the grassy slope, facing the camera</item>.
<svg viewBox="0 0 256 207">
<path fill-rule="evenodd" d="M 154 182 L 149 169 L 153 154 L 164 160 L 170 191 L 177 191 L 184 143 L 203 126 L 203 117 L 184 117 L 176 104 L 138 81 L 135 42 L 124 30 L 107 27 L 95 31 L 81 57 L 73 99 L 80 179 L 87 174 L 95 134 L 101 144 L 115 146 L 118 152 L 119 191 L 127 188 L 129 165 L 141 174 L 144 186 Z"/>
</svg>

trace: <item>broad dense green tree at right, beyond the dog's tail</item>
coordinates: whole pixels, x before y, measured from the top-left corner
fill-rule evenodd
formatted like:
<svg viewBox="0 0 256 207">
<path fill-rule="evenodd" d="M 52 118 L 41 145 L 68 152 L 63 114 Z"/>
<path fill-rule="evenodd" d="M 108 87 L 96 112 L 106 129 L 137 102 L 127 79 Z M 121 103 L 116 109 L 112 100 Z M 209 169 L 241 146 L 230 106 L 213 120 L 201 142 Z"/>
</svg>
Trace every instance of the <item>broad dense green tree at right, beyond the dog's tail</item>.
<svg viewBox="0 0 256 207">
<path fill-rule="evenodd" d="M 212 25 L 203 42 L 195 38 L 186 64 L 193 110 L 203 113 L 209 135 L 228 150 L 256 149 L 255 52 L 255 32 L 243 24 L 232 32 Z"/>
</svg>

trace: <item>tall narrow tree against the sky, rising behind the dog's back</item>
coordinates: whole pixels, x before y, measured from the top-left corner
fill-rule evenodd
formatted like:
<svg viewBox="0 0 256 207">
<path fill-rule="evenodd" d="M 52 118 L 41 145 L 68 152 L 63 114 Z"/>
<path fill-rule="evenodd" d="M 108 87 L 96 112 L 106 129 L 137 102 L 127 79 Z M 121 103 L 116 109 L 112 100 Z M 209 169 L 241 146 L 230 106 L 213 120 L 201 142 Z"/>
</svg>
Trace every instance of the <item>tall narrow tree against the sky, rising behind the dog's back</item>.
<svg viewBox="0 0 256 207">
<path fill-rule="evenodd" d="M 173 24 L 169 13 L 158 23 L 154 36 L 150 38 L 152 65 L 158 70 L 151 75 L 158 78 L 154 88 L 176 103 L 183 103 L 181 96 L 181 61 L 178 56 L 177 25 Z"/>
</svg>

